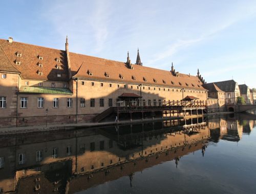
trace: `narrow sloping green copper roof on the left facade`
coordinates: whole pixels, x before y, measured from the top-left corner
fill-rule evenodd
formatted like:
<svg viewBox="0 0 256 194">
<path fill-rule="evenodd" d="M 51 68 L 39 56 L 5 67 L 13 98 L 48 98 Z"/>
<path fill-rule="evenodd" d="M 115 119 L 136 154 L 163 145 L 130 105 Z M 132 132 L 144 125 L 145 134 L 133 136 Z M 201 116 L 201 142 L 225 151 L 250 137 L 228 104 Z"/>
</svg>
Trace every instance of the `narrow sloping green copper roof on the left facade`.
<svg viewBox="0 0 256 194">
<path fill-rule="evenodd" d="M 34 86 L 21 86 L 20 93 L 45 93 L 45 94 L 72 94 L 67 88 L 47 88 Z"/>
</svg>

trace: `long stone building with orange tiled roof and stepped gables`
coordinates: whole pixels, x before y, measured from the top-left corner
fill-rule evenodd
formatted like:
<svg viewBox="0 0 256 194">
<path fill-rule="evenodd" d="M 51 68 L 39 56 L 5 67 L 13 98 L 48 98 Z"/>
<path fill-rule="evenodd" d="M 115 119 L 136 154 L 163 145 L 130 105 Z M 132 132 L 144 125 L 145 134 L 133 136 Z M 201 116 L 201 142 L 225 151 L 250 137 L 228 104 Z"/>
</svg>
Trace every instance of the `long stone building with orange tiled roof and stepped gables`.
<svg viewBox="0 0 256 194">
<path fill-rule="evenodd" d="M 71 53 L 68 39 L 65 51 L 0 39 L 0 74 L 1 127 L 90 122 L 127 96 L 131 105 L 187 95 L 207 103 L 201 76 L 142 66 L 139 51 L 135 64 L 129 54 L 118 62 Z"/>
</svg>

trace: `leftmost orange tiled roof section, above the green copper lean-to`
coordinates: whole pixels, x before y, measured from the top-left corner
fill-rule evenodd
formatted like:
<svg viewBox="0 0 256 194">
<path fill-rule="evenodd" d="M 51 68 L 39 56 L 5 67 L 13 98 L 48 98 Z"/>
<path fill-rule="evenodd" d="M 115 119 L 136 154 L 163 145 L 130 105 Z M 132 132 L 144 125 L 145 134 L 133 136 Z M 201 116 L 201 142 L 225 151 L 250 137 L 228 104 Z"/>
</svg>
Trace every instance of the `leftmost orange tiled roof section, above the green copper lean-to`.
<svg viewBox="0 0 256 194">
<path fill-rule="evenodd" d="M 6 64 L 7 60 L 2 57 L 3 53 L 1 54 L 3 50 L 12 66 L 17 69 L 16 71 L 21 72 L 24 79 L 68 81 L 66 51 L 15 41 L 9 43 L 8 40 L 3 39 L 0 39 L 0 45 L 2 47 L 0 60 L 5 60 L 4 64 Z M 18 57 L 17 53 L 22 54 L 22 57 Z M 39 57 L 42 57 L 42 60 Z M 56 59 L 60 59 L 60 62 Z M 19 61 L 20 65 L 17 65 L 16 61 Z M 39 64 L 42 64 L 42 67 L 39 67 Z M 57 65 L 60 69 L 57 69 Z M 3 68 L 2 62 L 0 66 Z M 8 66 L 12 68 L 11 65 Z M 42 72 L 42 75 L 38 72 Z M 57 74 L 61 74 L 61 77 L 57 77 Z"/>
</svg>

